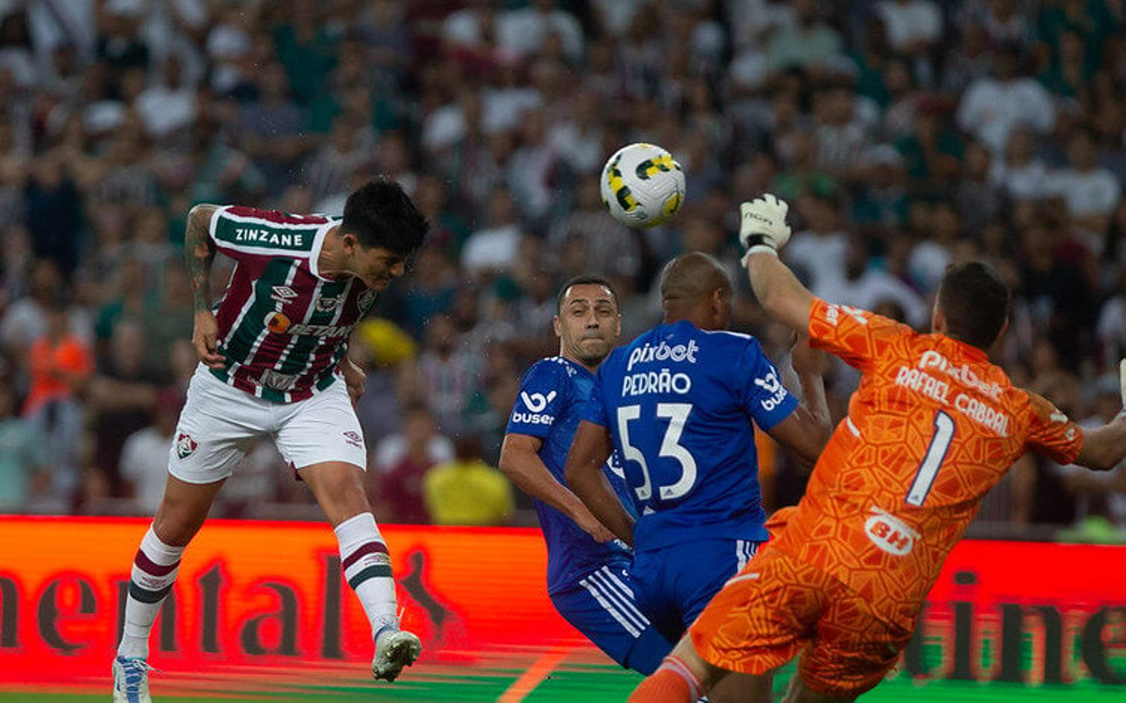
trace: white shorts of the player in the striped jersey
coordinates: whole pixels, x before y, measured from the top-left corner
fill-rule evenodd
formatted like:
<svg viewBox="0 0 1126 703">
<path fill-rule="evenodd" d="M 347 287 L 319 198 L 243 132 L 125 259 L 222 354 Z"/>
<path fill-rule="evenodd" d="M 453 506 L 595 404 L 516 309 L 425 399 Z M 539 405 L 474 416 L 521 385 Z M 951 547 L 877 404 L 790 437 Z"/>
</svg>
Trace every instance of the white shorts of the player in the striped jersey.
<svg viewBox="0 0 1126 703">
<path fill-rule="evenodd" d="M 272 403 L 196 368 L 172 437 L 168 472 L 188 483 L 214 483 L 261 437 L 271 437 L 293 469 L 322 462 L 367 468 L 364 434 L 343 381 L 294 403 Z"/>
</svg>

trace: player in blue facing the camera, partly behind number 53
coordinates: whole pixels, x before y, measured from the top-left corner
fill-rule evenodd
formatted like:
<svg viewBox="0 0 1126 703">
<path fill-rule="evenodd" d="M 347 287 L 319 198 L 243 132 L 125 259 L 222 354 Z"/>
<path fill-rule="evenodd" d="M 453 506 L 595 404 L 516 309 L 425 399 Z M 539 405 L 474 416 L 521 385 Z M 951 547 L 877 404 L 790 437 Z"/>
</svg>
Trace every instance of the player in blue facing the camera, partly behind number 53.
<svg viewBox="0 0 1126 703">
<path fill-rule="evenodd" d="M 637 607 L 628 550 L 563 482 L 579 408 L 595 386 L 592 372 L 622 331 L 610 284 L 597 276 L 568 282 L 554 326 L 560 355 L 536 362 L 525 374 L 500 468 L 536 499 L 547 542 L 547 595 L 555 608 L 615 661 L 649 674 L 676 640 L 661 635 Z M 607 479 L 626 490 L 620 478 Z"/>
</svg>

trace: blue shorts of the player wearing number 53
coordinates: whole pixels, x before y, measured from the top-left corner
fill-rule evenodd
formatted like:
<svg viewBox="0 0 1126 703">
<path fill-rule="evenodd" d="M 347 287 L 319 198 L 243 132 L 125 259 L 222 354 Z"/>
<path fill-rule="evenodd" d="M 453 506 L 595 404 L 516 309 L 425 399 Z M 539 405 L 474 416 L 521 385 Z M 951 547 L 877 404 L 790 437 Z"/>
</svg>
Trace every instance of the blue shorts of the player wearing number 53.
<svg viewBox="0 0 1126 703">
<path fill-rule="evenodd" d="M 664 637 L 680 640 L 727 579 L 747 566 L 760 542 L 695 540 L 634 552 L 629 576 L 637 605 Z"/>
</svg>

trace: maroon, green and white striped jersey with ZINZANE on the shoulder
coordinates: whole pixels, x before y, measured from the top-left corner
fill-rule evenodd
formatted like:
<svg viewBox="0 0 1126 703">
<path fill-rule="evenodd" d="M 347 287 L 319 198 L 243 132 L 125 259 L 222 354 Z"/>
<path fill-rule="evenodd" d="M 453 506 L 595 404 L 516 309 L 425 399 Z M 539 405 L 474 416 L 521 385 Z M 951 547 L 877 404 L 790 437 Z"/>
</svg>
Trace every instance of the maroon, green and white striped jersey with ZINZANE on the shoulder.
<svg viewBox="0 0 1126 703">
<path fill-rule="evenodd" d="M 235 260 L 215 306 L 218 353 L 211 372 L 278 403 L 304 400 L 336 381 L 356 323 L 375 304 L 359 278 L 321 276 L 316 259 L 339 219 L 227 205 L 212 215 L 215 247 Z"/>
</svg>

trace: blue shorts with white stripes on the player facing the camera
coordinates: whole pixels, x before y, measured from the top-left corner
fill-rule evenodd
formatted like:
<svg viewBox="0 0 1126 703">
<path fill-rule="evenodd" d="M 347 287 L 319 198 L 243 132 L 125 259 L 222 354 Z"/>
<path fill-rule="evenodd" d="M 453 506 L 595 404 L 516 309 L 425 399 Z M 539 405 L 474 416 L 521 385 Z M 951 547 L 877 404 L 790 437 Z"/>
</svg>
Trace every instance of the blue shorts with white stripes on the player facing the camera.
<svg viewBox="0 0 1126 703">
<path fill-rule="evenodd" d="M 649 676 L 674 641 L 642 614 L 635 594 L 626 562 L 620 562 L 604 566 L 549 597 L 560 615 L 610 659 Z"/>
</svg>

